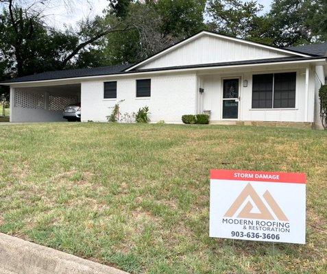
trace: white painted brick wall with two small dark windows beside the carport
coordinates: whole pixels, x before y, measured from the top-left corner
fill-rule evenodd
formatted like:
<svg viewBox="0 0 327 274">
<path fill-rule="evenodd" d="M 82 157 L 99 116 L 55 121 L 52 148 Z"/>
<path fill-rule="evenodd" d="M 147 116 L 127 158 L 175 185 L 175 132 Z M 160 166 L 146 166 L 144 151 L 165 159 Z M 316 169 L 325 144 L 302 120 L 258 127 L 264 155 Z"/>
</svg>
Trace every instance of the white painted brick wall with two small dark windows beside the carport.
<svg viewBox="0 0 327 274">
<path fill-rule="evenodd" d="M 151 97 L 136 98 L 136 79 L 152 79 Z M 195 74 L 156 75 L 148 77 L 129 77 L 108 79 L 117 81 L 117 99 L 104 99 L 104 82 L 82 82 L 82 121 L 106 121 L 112 106 L 118 101 L 120 112 L 137 112 L 139 108 L 149 107 L 152 122 L 182 123 L 183 114 L 195 114 L 195 95 L 197 77 Z"/>
</svg>

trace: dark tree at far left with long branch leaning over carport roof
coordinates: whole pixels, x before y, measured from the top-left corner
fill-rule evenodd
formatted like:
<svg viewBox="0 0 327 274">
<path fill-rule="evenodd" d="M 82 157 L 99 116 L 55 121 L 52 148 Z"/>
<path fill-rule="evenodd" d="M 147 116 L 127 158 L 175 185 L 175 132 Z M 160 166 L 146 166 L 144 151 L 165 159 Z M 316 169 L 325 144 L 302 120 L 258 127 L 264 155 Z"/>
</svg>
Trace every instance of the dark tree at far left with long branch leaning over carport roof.
<svg viewBox="0 0 327 274">
<path fill-rule="evenodd" d="M 80 23 L 80 30 L 58 31 L 47 27 L 40 12 L 7 3 L 0 14 L 0 55 L 7 60 L 8 75 L 23 76 L 73 66 L 81 51 L 88 51 L 104 36 L 128 29 L 119 21 L 104 21 L 97 16 Z"/>
</svg>

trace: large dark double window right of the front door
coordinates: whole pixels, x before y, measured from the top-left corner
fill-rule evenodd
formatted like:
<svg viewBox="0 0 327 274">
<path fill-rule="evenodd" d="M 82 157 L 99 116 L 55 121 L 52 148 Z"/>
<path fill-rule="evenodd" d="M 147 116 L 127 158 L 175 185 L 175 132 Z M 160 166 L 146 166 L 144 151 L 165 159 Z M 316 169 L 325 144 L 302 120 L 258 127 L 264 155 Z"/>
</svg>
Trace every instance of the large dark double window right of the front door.
<svg viewBox="0 0 327 274">
<path fill-rule="evenodd" d="M 252 108 L 295 108 L 296 73 L 253 75 Z"/>
</svg>

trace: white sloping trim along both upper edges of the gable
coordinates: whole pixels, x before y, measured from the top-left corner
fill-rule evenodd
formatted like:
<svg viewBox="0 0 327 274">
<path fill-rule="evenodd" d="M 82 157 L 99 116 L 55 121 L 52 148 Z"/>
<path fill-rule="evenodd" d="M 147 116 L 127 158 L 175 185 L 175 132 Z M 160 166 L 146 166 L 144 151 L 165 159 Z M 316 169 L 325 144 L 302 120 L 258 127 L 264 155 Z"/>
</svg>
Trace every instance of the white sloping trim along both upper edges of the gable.
<svg viewBox="0 0 327 274">
<path fill-rule="evenodd" d="M 196 34 L 195 36 L 191 36 L 190 38 L 186 38 L 184 41 L 179 42 L 178 44 L 173 45 L 172 47 L 169 47 L 168 49 L 165 49 L 164 51 L 160 51 L 159 53 L 157 53 L 155 55 L 152 55 L 151 57 L 139 62 L 138 64 L 134 64 L 134 66 L 131 66 L 130 68 L 125 69 L 125 71 L 130 71 L 132 69 L 135 69 L 136 67 L 141 66 L 144 63 L 147 63 L 147 62 L 149 62 L 151 60 L 154 60 L 154 59 L 160 57 L 161 55 L 164 55 L 165 53 L 168 53 L 169 51 L 173 51 L 174 49 L 176 49 L 178 47 L 181 47 L 182 45 L 186 44 L 187 42 L 191 42 L 192 40 L 195 40 L 196 38 L 198 38 L 200 36 L 204 36 L 204 35 L 219 37 L 219 38 L 223 38 L 223 39 L 226 39 L 226 40 L 232 40 L 234 42 L 241 42 L 243 44 L 252 45 L 252 46 L 255 46 L 255 47 L 262 47 L 264 49 L 269 49 L 269 50 L 274 50 L 274 51 L 280 51 L 282 53 L 289 53 L 291 55 L 298 55 L 298 56 L 302 56 L 302 57 L 311 57 L 311 55 L 304 54 L 304 53 L 289 51 L 287 49 L 279 49 L 279 48 L 276 48 L 276 47 L 271 47 L 269 45 L 258 44 L 256 42 L 242 40 L 242 39 L 239 39 L 239 38 L 234 38 L 234 37 L 230 37 L 230 36 L 224 36 L 224 35 L 221 35 L 221 34 L 214 34 L 212 32 L 202 31 L 202 32 L 199 32 L 198 34 Z"/>
</svg>

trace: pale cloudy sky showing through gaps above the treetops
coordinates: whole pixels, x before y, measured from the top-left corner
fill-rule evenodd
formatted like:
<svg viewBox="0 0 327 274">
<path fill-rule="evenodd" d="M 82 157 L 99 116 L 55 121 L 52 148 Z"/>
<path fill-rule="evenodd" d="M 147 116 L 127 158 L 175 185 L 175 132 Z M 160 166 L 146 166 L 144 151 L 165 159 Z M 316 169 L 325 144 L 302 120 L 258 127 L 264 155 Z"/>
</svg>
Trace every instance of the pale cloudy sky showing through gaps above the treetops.
<svg viewBox="0 0 327 274">
<path fill-rule="evenodd" d="M 37 0 L 21 0 L 31 3 Z M 243 0 L 246 1 L 246 0 Z M 258 0 L 264 6 L 263 12 L 270 8 L 272 0 Z M 73 5 L 67 7 L 64 2 L 71 2 Z M 58 29 L 64 29 L 65 25 L 76 27 L 78 21 L 86 17 L 94 17 L 108 7 L 108 0 L 51 0 L 43 11 L 48 25 L 55 26 Z"/>
</svg>

